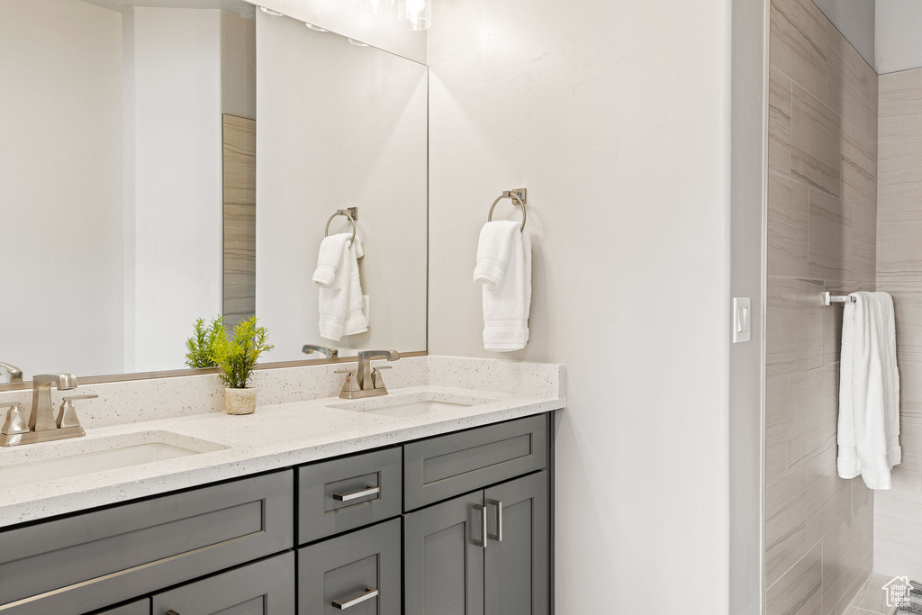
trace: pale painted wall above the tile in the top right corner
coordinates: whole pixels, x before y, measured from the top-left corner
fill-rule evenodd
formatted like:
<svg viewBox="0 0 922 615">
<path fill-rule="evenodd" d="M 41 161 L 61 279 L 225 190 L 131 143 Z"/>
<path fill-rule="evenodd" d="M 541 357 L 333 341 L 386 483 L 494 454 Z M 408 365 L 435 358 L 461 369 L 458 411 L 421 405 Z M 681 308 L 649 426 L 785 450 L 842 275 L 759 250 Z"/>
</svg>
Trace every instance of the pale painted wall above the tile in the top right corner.
<svg viewBox="0 0 922 615">
<path fill-rule="evenodd" d="M 922 2 L 877 0 L 879 75 L 922 66 Z"/>
</svg>

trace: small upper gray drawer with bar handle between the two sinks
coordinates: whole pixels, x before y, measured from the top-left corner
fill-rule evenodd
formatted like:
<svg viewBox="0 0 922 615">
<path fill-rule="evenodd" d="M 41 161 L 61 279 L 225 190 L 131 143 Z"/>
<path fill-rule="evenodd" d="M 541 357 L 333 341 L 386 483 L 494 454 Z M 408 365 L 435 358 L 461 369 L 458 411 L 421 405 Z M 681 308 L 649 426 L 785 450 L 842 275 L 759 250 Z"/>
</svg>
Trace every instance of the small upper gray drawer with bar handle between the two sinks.
<svg viewBox="0 0 922 615">
<path fill-rule="evenodd" d="M 298 468 L 298 544 L 401 513 L 400 448 Z"/>
</svg>

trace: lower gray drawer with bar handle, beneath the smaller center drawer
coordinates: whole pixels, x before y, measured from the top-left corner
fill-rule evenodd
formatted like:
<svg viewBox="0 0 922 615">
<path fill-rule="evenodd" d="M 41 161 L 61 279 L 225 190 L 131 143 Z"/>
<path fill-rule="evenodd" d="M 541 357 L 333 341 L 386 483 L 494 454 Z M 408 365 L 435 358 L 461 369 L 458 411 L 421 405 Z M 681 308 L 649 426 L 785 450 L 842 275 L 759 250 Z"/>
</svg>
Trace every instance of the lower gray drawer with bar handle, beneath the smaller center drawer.
<svg viewBox="0 0 922 615">
<path fill-rule="evenodd" d="M 298 550 L 298 612 L 400 615 L 400 519 Z"/>
</svg>

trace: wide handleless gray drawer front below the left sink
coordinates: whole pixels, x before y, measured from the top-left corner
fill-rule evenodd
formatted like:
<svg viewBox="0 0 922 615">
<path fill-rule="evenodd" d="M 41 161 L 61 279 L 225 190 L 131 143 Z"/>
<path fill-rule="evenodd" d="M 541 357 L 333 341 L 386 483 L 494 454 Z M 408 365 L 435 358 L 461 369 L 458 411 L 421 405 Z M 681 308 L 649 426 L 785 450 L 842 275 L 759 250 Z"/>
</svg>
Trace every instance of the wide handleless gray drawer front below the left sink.
<svg viewBox="0 0 922 615">
<path fill-rule="evenodd" d="M 291 470 L 0 532 L 0 615 L 77 615 L 290 549 Z"/>
</svg>

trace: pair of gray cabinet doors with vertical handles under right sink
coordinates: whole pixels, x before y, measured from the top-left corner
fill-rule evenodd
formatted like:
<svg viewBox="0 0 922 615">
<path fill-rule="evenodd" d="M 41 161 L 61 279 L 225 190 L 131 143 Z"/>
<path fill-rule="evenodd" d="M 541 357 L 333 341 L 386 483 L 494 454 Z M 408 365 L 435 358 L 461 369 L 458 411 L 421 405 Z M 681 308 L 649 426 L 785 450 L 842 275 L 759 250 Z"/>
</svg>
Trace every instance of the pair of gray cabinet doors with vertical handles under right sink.
<svg viewBox="0 0 922 615">
<path fill-rule="evenodd" d="M 406 515 L 407 615 L 547 615 L 548 475 Z"/>
</svg>

